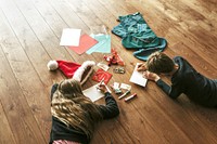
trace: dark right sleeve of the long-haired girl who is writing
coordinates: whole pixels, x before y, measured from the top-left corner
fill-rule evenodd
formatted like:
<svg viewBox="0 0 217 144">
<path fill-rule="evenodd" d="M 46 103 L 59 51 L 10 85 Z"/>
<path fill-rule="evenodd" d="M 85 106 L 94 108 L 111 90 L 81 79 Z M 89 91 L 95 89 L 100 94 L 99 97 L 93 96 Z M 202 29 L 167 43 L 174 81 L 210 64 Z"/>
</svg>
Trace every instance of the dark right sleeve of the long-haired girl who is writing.
<svg viewBox="0 0 217 144">
<path fill-rule="evenodd" d="M 99 105 L 103 119 L 114 118 L 119 115 L 119 108 L 110 92 L 105 93 L 105 105 Z"/>
</svg>

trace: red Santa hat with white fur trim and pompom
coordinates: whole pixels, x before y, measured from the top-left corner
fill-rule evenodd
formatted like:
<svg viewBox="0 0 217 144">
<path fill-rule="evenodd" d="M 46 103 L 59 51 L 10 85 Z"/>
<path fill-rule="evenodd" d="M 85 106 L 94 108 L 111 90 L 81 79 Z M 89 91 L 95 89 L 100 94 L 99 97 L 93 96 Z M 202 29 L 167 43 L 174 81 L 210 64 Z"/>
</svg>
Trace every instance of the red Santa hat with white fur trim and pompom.
<svg viewBox="0 0 217 144">
<path fill-rule="evenodd" d="M 67 62 L 67 61 L 50 61 L 48 63 L 49 70 L 60 69 L 67 78 L 76 79 L 80 83 L 85 83 L 93 70 L 95 63 L 93 61 L 86 61 L 82 65 Z"/>
</svg>

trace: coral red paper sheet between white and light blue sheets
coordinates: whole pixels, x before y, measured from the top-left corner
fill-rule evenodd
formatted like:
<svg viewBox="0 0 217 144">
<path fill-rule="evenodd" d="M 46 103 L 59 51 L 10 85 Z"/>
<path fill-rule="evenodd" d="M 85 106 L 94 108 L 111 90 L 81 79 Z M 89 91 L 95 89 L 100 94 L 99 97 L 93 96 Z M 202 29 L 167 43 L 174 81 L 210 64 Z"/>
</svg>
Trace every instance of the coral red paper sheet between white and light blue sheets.
<svg viewBox="0 0 217 144">
<path fill-rule="evenodd" d="M 78 47 L 69 47 L 69 49 L 75 51 L 77 54 L 82 54 L 84 52 L 86 52 L 88 49 L 90 49 L 91 47 L 93 47 L 97 43 L 98 43 L 98 41 L 95 39 L 93 39 L 92 37 L 85 34 L 80 37 L 79 45 Z"/>
</svg>

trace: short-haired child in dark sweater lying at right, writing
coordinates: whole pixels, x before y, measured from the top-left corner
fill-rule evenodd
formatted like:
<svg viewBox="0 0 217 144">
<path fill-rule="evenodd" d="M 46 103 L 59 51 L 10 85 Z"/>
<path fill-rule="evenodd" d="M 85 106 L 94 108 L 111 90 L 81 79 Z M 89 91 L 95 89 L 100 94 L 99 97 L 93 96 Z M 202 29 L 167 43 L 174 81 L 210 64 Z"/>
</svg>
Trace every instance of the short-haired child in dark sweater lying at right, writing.
<svg viewBox="0 0 217 144">
<path fill-rule="evenodd" d="M 217 79 L 212 80 L 197 73 L 181 56 L 169 58 L 162 52 L 151 54 L 139 71 L 144 71 L 146 79 L 153 80 L 171 99 L 184 93 L 191 101 L 207 107 L 217 106 Z M 165 83 L 159 75 L 171 77 L 171 86 Z"/>
</svg>

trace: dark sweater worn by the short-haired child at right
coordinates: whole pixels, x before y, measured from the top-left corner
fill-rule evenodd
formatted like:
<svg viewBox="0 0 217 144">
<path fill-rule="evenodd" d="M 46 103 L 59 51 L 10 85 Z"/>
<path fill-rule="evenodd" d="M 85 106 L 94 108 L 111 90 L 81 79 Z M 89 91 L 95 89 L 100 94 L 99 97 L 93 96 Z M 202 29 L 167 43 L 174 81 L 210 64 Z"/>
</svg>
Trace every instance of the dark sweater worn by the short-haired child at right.
<svg viewBox="0 0 217 144">
<path fill-rule="evenodd" d="M 184 93 L 197 104 L 217 106 L 217 80 L 212 80 L 197 73 L 183 57 L 176 56 L 175 63 L 179 69 L 171 77 L 171 87 L 159 79 L 156 83 L 170 97 L 177 99 Z"/>
</svg>

